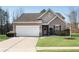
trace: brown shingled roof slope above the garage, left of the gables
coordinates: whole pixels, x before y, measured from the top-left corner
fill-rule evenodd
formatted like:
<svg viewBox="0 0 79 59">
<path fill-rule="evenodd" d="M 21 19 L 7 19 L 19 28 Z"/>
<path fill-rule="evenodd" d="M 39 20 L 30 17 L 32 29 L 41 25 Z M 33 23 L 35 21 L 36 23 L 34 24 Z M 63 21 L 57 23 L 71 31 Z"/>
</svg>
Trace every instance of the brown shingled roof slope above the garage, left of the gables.
<svg viewBox="0 0 79 59">
<path fill-rule="evenodd" d="M 14 22 L 40 21 L 37 19 L 37 17 L 39 17 L 40 15 L 41 15 L 40 13 L 23 13 Z"/>
</svg>

